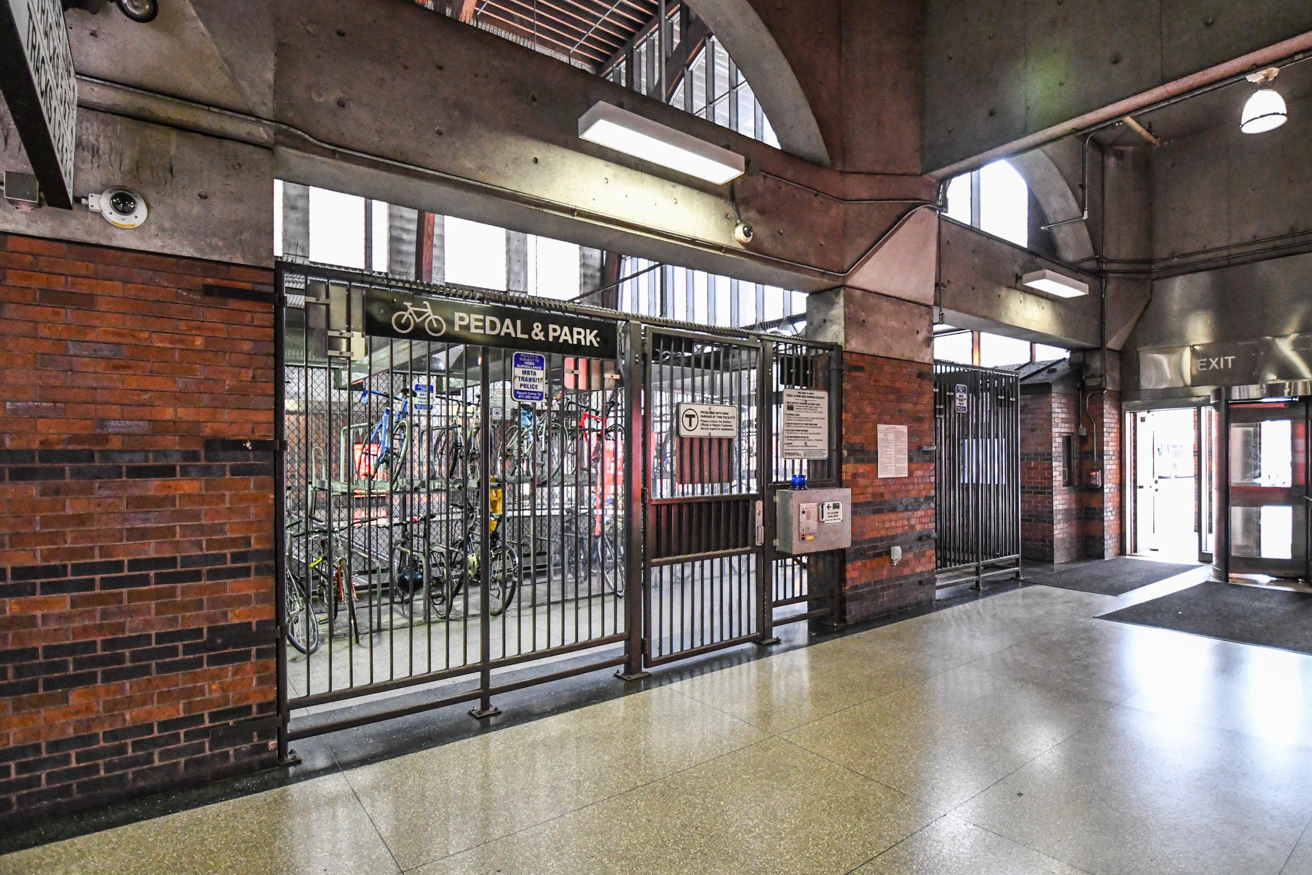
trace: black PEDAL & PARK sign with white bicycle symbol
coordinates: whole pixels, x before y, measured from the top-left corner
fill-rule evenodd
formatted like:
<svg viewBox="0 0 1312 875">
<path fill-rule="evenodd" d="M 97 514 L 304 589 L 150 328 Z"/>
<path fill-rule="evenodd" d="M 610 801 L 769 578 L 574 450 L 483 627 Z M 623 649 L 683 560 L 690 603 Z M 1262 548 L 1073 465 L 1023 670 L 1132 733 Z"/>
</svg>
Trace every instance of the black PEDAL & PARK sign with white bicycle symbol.
<svg viewBox="0 0 1312 875">
<path fill-rule="evenodd" d="M 365 293 L 365 333 L 588 358 L 615 358 L 619 350 L 615 323 L 384 289 Z"/>
</svg>

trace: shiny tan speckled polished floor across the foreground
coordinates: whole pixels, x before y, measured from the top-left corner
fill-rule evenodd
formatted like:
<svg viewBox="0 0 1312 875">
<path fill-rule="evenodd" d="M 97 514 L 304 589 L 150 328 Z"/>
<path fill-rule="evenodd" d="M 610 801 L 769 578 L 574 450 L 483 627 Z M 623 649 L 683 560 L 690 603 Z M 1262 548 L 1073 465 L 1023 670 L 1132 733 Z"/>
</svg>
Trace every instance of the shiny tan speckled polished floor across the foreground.
<svg viewBox="0 0 1312 875">
<path fill-rule="evenodd" d="M 1096 619 L 1145 590 L 1027 586 L 0 874 L 1312 875 L 1312 657 Z"/>
</svg>

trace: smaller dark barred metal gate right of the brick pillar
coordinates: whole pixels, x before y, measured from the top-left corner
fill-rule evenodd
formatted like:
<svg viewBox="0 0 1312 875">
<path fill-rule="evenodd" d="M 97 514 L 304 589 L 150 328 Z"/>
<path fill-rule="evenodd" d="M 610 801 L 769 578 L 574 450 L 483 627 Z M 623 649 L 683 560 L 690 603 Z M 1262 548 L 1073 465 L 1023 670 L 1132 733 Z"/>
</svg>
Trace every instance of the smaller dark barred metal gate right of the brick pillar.
<svg viewBox="0 0 1312 875">
<path fill-rule="evenodd" d="M 1021 573 L 1021 383 L 934 362 L 938 585 Z"/>
</svg>

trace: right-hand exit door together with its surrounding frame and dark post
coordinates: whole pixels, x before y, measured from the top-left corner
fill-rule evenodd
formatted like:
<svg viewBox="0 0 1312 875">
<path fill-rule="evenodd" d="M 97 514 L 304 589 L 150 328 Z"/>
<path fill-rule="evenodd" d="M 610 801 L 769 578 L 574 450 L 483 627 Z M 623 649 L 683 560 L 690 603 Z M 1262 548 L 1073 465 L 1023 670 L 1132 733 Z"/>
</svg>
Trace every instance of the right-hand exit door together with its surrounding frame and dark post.
<svg viewBox="0 0 1312 875">
<path fill-rule="evenodd" d="M 1214 458 L 1218 580 L 1305 585 L 1312 386 L 1218 390 Z"/>
</svg>

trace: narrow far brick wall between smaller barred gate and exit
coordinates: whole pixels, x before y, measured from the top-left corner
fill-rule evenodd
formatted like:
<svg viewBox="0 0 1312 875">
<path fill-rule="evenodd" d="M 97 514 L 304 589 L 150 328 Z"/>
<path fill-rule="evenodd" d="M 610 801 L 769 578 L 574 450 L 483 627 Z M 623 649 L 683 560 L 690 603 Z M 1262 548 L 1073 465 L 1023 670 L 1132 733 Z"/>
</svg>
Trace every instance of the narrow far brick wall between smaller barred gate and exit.
<svg viewBox="0 0 1312 875">
<path fill-rule="evenodd" d="M 1077 434 L 1078 396 L 1026 387 L 1021 395 L 1021 551 L 1031 561 L 1065 563 L 1080 552 L 1080 464 L 1063 483 L 1063 437 Z"/>
</svg>

